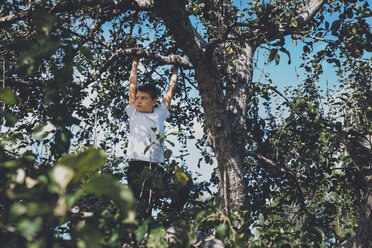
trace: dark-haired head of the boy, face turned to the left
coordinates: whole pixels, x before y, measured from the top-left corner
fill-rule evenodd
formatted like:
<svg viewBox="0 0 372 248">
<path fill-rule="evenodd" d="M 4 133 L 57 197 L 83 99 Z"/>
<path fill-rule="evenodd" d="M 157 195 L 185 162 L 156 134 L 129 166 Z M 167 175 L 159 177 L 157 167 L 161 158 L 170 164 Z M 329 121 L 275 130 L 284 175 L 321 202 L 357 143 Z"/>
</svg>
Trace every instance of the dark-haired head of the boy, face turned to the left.
<svg viewBox="0 0 372 248">
<path fill-rule="evenodd" d="M 139 112 L 152 113 L 158 99 L 158 89 L 152 84 L 142 84 L 137 87 L 136 109 Z"/>
</svg>

